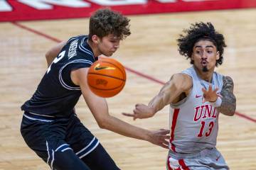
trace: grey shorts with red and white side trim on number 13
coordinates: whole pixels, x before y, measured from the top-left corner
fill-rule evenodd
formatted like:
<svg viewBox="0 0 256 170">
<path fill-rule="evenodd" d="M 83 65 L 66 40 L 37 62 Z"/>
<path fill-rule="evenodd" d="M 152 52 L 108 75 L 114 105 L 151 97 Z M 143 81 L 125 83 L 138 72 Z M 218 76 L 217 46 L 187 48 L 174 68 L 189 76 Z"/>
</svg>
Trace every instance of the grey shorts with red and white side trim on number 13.
<svg viewBox="0 0 256 170">
<path fill-rule="evenodd" d="M 177 154 L 169 151 L 167 170 L 228 170 L 225 159 L 217 149 L 204 149 L 196 154 Z"/>
</svg>

